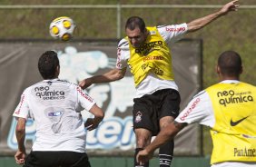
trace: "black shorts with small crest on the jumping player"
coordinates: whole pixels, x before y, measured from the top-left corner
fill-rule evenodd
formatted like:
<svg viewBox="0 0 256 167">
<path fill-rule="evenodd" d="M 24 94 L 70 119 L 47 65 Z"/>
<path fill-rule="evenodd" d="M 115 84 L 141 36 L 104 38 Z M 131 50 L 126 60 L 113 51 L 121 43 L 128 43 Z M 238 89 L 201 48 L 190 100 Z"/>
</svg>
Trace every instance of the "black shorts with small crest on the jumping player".
<svg viewBox="0 0 256 167">
<path fill-rule="evenodd" d="M 143 128 L 153 136 L 160 132 L 159 120 L 164 116 L 176 118 L 180 111 L 180 93 L 162 89 L 153 94 L 133 99 L 133 129 Z"/>
</svg>

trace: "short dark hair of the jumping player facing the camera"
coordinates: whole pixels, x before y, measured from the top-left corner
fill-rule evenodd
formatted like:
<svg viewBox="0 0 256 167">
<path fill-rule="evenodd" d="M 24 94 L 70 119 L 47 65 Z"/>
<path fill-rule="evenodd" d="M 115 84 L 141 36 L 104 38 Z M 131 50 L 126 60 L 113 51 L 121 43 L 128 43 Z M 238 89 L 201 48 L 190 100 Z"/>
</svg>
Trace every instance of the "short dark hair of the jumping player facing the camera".
<svg viewBox="0 0 256 167">
<path fill-rule="evenodd" d="M 132 16 L 128 18 L 125 24 L 125 30 L 128 28 L 130 30 L 134 30 L 136 27 L 139 27 L 141 32 L 143 32 L 146 28 L 146 25 L 143 19 L 139 16 Z"/>
</svg>

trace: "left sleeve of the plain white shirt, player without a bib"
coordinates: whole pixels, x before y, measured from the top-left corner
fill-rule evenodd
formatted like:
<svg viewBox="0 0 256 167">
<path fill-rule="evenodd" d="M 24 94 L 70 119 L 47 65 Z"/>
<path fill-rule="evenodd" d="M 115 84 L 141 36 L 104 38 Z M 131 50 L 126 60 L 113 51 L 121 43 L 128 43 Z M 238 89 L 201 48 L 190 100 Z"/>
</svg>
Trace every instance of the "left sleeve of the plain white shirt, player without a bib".
<svg viewBox="0 0 256 167">
<path fill-rule="evenodd" d="M 25 118 L 25 119 L 29 117 L 28 98 L 29 98 L 29 95 L 26 89 L 24 93 L 22 93 L 21 95 L 20 102 L 16 106 L 13 116 L 15 116 L 16 118 Z"/>
</svg>

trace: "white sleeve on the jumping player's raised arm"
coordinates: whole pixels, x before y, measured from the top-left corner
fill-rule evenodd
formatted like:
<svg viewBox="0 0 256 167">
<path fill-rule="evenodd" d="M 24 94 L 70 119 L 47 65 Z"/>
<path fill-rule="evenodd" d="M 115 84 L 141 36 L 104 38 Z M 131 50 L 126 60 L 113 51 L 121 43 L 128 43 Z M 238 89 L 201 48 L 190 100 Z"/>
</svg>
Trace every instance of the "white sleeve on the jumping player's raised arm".
<svg viewBox="0 0 256 167">
<path fill-rule="evenodd" d="M 158 25 L 157 29 L 167 44 L 173 44 L 187 33 L 188 25 L 185 23 L 181 25 Z"/>
</svg>

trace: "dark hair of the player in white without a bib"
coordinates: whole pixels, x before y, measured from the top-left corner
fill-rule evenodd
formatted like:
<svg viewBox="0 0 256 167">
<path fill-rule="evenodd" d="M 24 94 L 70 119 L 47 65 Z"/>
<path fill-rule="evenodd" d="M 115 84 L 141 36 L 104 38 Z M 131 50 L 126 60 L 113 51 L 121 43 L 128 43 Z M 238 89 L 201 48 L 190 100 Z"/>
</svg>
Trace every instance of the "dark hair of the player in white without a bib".
<svg viewBox="0 0 256 167">
<path fill-rule="evenodd" d="M 38 61 L 38 70 L 44 79 L 55 78 L 57 66 L 60 66 L 57 53 L 54 51 L 46 51 L 41 55 Z"/>
</svg>

